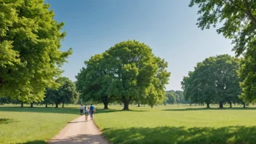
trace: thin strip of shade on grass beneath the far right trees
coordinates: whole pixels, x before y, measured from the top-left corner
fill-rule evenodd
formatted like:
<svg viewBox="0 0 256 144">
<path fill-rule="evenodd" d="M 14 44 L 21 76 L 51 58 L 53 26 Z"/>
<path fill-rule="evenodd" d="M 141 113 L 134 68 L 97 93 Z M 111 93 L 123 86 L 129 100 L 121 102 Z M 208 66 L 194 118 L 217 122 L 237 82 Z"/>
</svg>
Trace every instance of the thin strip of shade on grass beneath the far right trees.
<svg viewBox="0 0 256 144">
<path fill-rule="evenodd" d="M 165 109 L 163 111 L 204 111 L 204 110 L 256 110 L 256 108 L 185 108 L 185 109 Z"/>
</svg>

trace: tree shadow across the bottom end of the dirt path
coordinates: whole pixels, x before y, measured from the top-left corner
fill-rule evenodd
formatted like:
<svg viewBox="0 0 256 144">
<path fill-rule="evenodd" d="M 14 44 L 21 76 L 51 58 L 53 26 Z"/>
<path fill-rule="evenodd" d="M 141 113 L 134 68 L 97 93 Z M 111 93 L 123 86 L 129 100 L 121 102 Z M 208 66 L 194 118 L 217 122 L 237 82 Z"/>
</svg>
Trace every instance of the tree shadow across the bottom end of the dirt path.
<svg viewBox="0 0 256 144">
<path fill-rule="evenodd" d="M 49 144 L 80 144 L 80 143 L 108 143 L 107 140 L 102 138 L 101 135 L 76 135 L 63 139 L 53 139 L 48 142 Z"/>
</svg>

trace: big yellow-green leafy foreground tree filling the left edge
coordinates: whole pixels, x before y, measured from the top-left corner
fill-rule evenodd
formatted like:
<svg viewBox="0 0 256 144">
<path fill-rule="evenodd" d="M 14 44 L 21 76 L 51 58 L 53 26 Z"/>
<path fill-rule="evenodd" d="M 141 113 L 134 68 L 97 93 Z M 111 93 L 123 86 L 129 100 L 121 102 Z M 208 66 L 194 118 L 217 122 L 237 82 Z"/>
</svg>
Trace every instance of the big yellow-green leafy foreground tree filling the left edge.
<svg viewBox="0 0 256 144">
<path fill-rule="evenodd" d="M 64 23 L 44 0 L 2 0 L 0 14 L 0 95 L 39 102 L 72 53 L 60 51 Z"/>
</svg>

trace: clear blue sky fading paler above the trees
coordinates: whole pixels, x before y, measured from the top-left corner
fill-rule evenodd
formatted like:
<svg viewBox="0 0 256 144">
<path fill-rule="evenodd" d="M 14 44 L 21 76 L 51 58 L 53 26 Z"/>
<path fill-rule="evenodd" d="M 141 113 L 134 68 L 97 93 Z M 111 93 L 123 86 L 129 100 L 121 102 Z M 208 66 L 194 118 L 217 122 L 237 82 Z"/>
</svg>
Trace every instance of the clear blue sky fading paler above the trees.
<svg viewBox="0 0 256 144">
<path fill-rule="evenodd" d="M 190 0 L 46 0 L 55 20 L 68 33 L 63 50 L 73 55 L 63 65 L 63 76 L 76 81 L 84 60 L 128 39 L 144 42 L 169 63 L 167 90 L 181 89 L 180 81 L 196 63 L 209 56 L 234 55 L 231 41 L 215 28 L 197 28 L 197 7 Z"/>
</svg>

